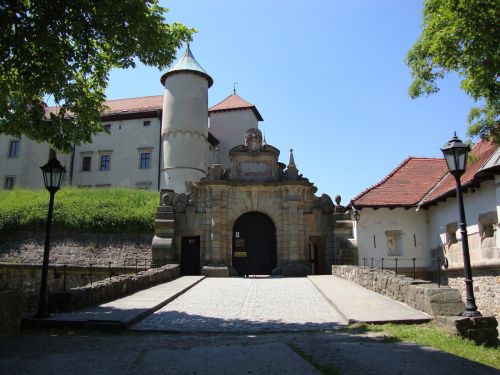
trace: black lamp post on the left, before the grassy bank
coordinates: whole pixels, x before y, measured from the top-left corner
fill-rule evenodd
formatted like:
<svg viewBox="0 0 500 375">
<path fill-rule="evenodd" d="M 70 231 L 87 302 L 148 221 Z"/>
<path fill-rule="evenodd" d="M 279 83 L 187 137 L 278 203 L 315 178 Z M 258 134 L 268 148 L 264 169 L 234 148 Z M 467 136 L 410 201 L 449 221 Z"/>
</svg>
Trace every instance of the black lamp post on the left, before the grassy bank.
<svg viewBox="0 0 500 375">
<path fill-rule="evenodd" d="M 42 280 L 40 282 L 40 300 L 35 317 L 44 318 L 47 313 L 47 276 L 49 273 L 50 254 L 50 227 L 52 225 L 52 211 L 54 209 L 54 195 L 61 188 L 61 182 L 66 170 L 57 160 L 55 153 L 51 153 L 50 159 L 44 166 L 40 167 L 43 172 L 45 188 L 50 193 L 49 212 L 47 214 L 47 228 L 45 232 L 45 247 L 43 250 Z"/>
</svg>

